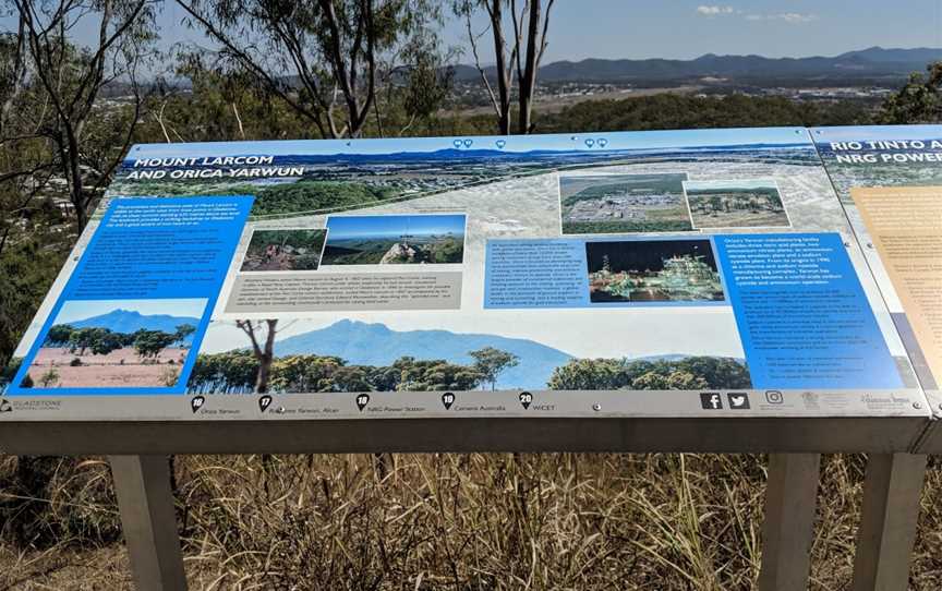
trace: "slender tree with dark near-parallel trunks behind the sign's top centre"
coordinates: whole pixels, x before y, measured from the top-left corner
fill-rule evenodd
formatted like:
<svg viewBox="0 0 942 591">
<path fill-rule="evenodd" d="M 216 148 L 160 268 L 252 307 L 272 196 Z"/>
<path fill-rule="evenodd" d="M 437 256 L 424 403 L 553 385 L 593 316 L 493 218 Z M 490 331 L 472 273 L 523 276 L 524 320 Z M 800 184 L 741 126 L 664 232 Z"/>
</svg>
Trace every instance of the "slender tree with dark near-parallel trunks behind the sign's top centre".
<svg viewBox="0 0 942 591">
<path fill-rule="evenodd" d="M 543 2 L 545 1 L 545 12 Z M 546 51 L 550 31 L 550 12 L 554 0 L 523 0 L 518 12 L 516 0 L 457 0 L 452 3 L 454 11 L 463 17 L 468 31 L 468 41 L 474 56 L 474 65 L 481 74 L 481 81 L 491 98 L 491 105 L 497 116 L 497 129 L 503 134 L 510 133 L 510 108 L 514 91 L 514 79 L 517 81 L 517 133 L 533 131 L 533 98 L 536 94 L 536 73 L 543 53 Z M 471 19 L 474 13 L 484 10 L 488 26 L 482 33 L 475 34 Z M 507 14 L 505 14 L 507 9 Z M 506 16 L 509 15 L 511 31 L 505 32 Z M 487 31 L 494 41 L 494 77 L 497 91 L 488 80 L 487 71 L 481 63 L 478 41 Z M 509 43 L 508 43 L 509 38 Z"/>
</svg>

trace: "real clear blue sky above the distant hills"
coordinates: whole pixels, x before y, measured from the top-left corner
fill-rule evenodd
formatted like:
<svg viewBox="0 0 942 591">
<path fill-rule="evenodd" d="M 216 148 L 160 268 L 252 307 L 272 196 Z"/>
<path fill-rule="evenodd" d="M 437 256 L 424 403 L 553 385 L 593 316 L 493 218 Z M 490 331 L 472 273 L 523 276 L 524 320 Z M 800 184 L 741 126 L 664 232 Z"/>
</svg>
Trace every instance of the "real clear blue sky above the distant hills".
<svg viewBox="0 0 942 591">
<path fill-rule="evenodd" d="M 942 47 L 938 0 L 557 0 L 544 63 L 584 58 L 676 58 L 703 53 L 833 56 L 853 49 Z M 204 43 L 168 2 L 158 17 L 165 45 Z M 450 15 L 449 15 L 450 16 Z M 8 26 L 11 20 L 0 19 Z M 484 20 L 472 23 L 475 31 Z M 92 38 L 90 26 L 78 27 Z M 447 45 L 467 47 L 464 23 L 449 17 Z M 485 60 L 493 53 L 485 52 Z M 470 62 L 470 52 L 463 62 Z"/>
</svg>

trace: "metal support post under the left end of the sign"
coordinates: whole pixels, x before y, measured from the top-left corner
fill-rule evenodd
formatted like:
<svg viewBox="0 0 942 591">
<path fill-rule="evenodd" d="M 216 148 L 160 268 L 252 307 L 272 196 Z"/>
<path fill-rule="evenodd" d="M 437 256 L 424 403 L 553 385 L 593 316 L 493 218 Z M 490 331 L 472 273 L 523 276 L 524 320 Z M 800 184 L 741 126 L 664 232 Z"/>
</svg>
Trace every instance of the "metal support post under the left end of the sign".
<svg viewBox="0 0 942 591">
<path fill-rule="evenodd" d="M 138 591 L 185 591 L 166 456 L 109 456 Z"/>
</svg>

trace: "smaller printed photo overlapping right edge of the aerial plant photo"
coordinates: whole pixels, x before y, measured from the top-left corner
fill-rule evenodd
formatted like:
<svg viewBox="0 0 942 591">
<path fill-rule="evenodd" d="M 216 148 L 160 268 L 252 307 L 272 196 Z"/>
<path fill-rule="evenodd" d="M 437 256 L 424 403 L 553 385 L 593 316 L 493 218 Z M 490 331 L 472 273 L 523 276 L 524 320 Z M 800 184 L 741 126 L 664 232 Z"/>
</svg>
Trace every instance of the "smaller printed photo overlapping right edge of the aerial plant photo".
<svg viewBox="0 0 942 591">
<path fill-rule="evenodd" d="M 684 181 L 684 192 L 698 229 L 792 226 L 772 179 Z"/>
</svg>

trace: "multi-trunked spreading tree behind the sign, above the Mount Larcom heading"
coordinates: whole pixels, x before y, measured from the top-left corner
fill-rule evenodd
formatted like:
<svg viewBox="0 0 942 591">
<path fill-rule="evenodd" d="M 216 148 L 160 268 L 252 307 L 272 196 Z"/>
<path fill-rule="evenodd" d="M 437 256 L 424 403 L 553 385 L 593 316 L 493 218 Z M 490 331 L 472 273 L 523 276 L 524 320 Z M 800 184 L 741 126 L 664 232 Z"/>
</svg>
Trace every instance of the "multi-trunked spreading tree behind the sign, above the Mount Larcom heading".
<svg viewBox="0 0 942 591">
<path fill-rule="evenodd" d="M 219 44 L 220 69 L 253 76 L 324 137 L 359 136 L 371 112 L 382 132 L 378 85 L 409 70 L 399 61 L 410 55 L 403 48 L 434 36 L 428 25 L 440 19 L 428 0 L 178 3 Z"/>
</svg>

